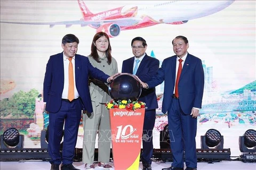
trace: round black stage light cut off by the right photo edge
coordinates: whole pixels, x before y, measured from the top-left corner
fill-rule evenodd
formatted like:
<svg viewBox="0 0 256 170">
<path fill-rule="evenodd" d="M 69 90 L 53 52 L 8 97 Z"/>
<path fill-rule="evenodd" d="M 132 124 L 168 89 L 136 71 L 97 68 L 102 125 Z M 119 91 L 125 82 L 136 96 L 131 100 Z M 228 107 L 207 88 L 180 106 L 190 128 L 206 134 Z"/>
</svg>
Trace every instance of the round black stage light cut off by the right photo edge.
<svg viewBox="0 0 256 170">
<path fill-rule="evenodd" d="M 239 150 L 243 162 L 256 162 L 256 131 L 249 129 L 239 137 Z"/>
</svg>

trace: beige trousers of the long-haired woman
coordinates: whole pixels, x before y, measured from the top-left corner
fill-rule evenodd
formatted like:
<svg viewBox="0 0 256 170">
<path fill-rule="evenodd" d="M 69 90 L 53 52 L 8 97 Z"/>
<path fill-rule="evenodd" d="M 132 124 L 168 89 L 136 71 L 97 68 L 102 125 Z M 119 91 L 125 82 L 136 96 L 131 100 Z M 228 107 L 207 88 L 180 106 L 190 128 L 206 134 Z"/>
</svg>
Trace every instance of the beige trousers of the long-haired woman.
<svg viewBox="0 0 256 170">
<path fill-rule="evenodd" d="M 98 132 L 98 161 L 109 162 L 111 130 L 109 111 L 105 104 L 95 106 L 92 102 L 93 113 L 83 114 L 83 163 L 92 164 L 94 161 L 95 140 Z"/>
</svg>

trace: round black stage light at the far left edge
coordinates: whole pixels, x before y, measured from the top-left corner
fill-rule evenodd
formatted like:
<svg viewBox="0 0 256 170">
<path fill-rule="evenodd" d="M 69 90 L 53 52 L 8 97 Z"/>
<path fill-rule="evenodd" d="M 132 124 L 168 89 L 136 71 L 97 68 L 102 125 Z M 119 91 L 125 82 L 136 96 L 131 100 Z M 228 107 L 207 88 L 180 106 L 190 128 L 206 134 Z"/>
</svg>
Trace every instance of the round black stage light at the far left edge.
<svg viewBox="0 0 256 170">
<path fill-rule="evenodd" d="M 1 148 L 23 148 L 24 135 L 15 128 L 9 128 L 0 137 Z"/>
</svg>

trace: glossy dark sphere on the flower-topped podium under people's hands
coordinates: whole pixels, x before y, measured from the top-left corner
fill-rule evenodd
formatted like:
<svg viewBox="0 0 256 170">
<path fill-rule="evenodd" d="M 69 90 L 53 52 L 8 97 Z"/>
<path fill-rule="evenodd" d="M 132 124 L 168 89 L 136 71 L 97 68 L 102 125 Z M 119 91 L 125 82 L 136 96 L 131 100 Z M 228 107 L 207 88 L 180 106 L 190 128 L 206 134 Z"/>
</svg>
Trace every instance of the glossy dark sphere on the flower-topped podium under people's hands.
<svg viewBox="0 0 256 170">
<path fill-rule="evenodd" d="M 133 74 L 121 73 L 111 81 L 108 91 L 115 101 L 128 99 L 136 101 L 141 94 L 141 84 Z"/>
</svg>

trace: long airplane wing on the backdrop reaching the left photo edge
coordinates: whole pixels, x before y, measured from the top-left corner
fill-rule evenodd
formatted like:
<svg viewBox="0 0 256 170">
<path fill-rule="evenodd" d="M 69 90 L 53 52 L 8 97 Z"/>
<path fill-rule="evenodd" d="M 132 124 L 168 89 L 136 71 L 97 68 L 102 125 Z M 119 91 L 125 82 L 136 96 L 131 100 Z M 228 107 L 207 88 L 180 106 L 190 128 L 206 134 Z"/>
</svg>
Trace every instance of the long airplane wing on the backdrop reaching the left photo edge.
<svg viewBox="0 0 256 170">
<path fill-rule="evenodd" d="M 87 25 L 100 25 L 106 23 L 115 23 L 121 27 L 125 27 L 126 25 L 131 25 L 142 21 L 141 18 L 138 17 L 131 17 L 131 18 L 122 18 L 122 19 L 112 19 L 112 20 L 99 20 L 99 21 L 60 21 L 60 22 L 9 22 L 9 21 L 0 21 L 1 23 L 12 23 L 12 24 L 27 24 L 27 25 L 50 25 L 50 28 L 54 27 L 54 25 L 66 25 L 66 27 L 71 27 L 71 25 L 81 25 L 81 27 Z"/>
</svg>

